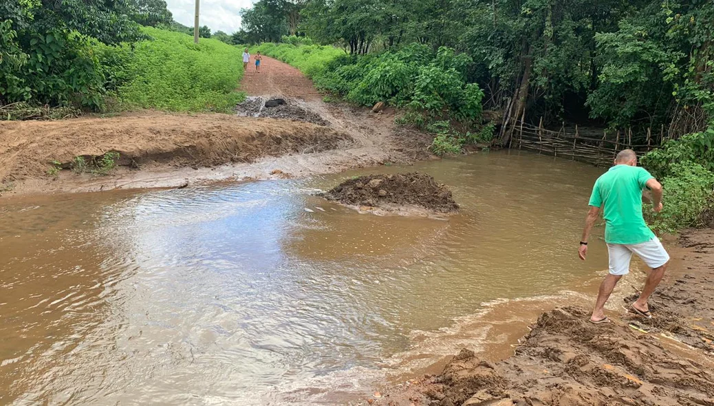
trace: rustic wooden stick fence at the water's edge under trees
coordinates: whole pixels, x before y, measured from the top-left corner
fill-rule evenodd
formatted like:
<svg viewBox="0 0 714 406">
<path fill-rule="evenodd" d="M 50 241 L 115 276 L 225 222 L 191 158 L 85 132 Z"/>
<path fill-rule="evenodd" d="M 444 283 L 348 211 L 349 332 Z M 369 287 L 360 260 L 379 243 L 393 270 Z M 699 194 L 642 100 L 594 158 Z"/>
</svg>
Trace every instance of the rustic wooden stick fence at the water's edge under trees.
<svg viewBox="0 0 714 406">
<path fill-rule="evenodd" d="M 513 124 L 509 148 L 529 149 L 538 151 L 541 154 L 550 154 L 555 157 L 570 158 L 575 161 L 588 162 L 598 167 L 609 167 L 613 164 L 615 155 L 623 149 L 633 149 L 638 154 L 643 154 L 659 143 L 658 139 L 653 139 L 651 131 L 647 132 L 647 144 L 633 145 L 632 130 L 620 134 L 615 132 L 608 137 L 607 132 L 603 132 L 603 137 L 583 137 L 575 126 L 574 133 L 565 132 L 565 128 L 560 131 L 553 131 L 543 128 L 543 119 L 540 119 L 538 127 L 526 124 L 522 120 Z"/>
</svg>

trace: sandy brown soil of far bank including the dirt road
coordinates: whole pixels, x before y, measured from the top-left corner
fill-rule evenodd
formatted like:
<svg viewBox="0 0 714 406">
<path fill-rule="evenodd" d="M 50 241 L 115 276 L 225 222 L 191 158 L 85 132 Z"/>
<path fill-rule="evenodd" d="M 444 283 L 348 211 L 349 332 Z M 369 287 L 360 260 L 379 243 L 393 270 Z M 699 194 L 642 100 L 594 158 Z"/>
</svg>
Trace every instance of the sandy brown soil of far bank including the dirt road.
<svg viewBox="0 0 714 406">
<path fill-rule="evenodd" d="M 275 110 L 279 119 L 136 112 L 0 122 L 0 196 L 301 177 L 430 155 L 431 137 L 396 127 L 392 109 L 373 114 L 348 104 L 326 104 L 309 79 L 275 59 L 265 57 L 260 74 L 249 68 L 241 89 L 251 96 L 286 98 L 288 107 Z M 68 169 L 76 156 L 108 151 L 121 154 L 121 167 L 109 176 Z M 54 161 L 66 170 L 49 174 Z"/>
</svg>

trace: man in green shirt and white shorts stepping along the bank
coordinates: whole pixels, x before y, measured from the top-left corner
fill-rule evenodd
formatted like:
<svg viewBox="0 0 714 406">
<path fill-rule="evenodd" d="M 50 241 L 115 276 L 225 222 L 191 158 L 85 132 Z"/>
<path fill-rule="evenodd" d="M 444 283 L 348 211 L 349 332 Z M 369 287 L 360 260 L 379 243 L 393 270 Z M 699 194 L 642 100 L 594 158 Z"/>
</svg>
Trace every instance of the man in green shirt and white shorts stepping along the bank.
<svg viewBox="0 0 714 406">
<path fill-rule="evenodd" d="M 602 210 L 605 218 L 605 242 L 608 244 L 610 274 L 600 284 L 598 300 L 595 302 L 595 310 L 590 317 L 590 322 L 598 324 L 609 321 L 608 317 L 605 317 L 605 302 L 608 301 L 610 293 L 613 292 L 620 278 L 630 272 L 630 258 L 633 252 L 652 268 L 652 271 L 647 277 L 640 297 L 630 308 L 643 317 L 652 317 L 647 300 L 662 280 L 670 257 L 660 240 L 647 227 L 642 216 L 642 202 L 648 199 L 644 194 L 645 189 L 649 189 L 652 193 L 653 209 L 655 212 L 660 212 L 662 185 L 644 168 L 637 166 L 637 154 L 631 149 L 620 151 L 615 157 L 615 166 L 595 181 L 578 254 L 584 261 L 588 254 L 590 229 L 593 228 Z"/>
</svg>

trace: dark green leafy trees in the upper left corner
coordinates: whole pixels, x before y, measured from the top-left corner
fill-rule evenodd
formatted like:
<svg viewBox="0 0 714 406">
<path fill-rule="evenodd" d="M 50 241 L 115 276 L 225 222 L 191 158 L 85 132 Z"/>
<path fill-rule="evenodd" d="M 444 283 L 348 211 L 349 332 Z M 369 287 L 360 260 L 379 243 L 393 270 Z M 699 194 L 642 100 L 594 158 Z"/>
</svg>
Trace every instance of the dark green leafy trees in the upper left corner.
<svg viewBox="0 0 714 406">
<path fill-rule="evenodd" d="M 104 78 L 94 44 L 141 37 L 131 4 L 104 0 L 18 0 L 0 4 L 0 105 L 102 106 Z"/>
</svg>

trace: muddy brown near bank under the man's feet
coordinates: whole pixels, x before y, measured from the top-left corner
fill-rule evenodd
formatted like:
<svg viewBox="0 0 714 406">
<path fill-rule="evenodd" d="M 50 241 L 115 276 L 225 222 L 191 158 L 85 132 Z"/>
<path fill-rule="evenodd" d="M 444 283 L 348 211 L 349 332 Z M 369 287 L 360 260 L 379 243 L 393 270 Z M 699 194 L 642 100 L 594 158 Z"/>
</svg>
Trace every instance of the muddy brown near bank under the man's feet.
<svg viewBox="0 0 714 406">
<path fill-rule="evenodd" d="M 685 234 L 680 244 L 685 269 L 653 295 L 652 320 L 623 310 L 593 325 L 588 309 L 558 307 L 540 315 L 508 359 L 462 350 L 440 374 L 368 403 L 714 405 L 714 230 Z"/>
</svg>

